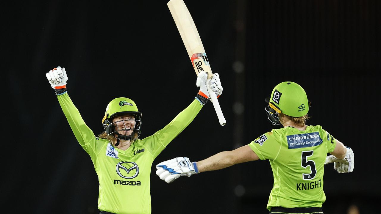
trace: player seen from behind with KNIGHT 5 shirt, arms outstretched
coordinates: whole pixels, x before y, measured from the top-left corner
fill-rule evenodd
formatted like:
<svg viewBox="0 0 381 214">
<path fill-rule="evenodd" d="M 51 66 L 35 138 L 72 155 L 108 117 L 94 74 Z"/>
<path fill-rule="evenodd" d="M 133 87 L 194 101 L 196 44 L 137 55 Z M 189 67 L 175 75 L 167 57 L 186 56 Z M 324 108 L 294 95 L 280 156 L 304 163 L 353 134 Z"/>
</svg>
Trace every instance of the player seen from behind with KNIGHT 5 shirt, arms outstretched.
<svg viewBox="0 0 381 214">
<path fill-rule="evenodd" d="M 167 183 L 181 176 L 223 169 L 234 164 L 269 160 L 274 176 L 267 209 L 271 214 L 322 214 L 324 164 L 335 162 L 339 173 L 352 172 L 354 153 L 325 131 L 322 126 L 307 126 L 310 102 L 304 89 L 286 81 L 275 86 L 265 99 L 272 129 L 250 144 L 217 153 L 205 160 L 191 162 L 178 157 L 157 164 L 156 174 Z M 330 153 L 327 157 L 327 153 Z"/>
</svg>

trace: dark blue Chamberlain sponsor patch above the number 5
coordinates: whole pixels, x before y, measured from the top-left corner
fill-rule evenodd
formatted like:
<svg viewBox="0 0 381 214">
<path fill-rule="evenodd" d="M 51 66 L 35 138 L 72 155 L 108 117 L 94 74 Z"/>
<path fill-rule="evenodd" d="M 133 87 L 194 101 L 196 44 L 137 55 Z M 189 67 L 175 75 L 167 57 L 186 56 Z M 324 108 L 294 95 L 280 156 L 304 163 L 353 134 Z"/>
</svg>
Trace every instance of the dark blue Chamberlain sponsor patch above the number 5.
<svg viewBox="0 0 381 214">
<path fill-rule="evenodd" d="M 313 147 L 322 144 L 319 132 L 307 134 L 293 134 L 287 136 L 288 149 Z"/>
</svg>

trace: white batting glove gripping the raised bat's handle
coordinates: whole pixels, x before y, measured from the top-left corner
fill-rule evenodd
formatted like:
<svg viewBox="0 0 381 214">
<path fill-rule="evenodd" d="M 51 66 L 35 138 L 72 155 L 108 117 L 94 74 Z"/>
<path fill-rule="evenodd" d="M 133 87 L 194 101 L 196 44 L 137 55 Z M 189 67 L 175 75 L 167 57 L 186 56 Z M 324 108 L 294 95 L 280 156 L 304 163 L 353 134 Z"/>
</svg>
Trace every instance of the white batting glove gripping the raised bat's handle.
<svg viewBox="0 0 381 214">
<path fill-rule="evenodd" d="M 212 89 L 216 96 L 219 97 L 222 94 L 223 88 L 218 73 L 214 73 L 213 77 L 210 79 L 207 78 L 208 74 L 204 71 L 200 72 L 197 77 L 196 85 L 200 87 L 199 95 L 207 99 L 210 99 L 207 89 L 207 87 L 210 87 L 210 89 Z"/>
</svg>

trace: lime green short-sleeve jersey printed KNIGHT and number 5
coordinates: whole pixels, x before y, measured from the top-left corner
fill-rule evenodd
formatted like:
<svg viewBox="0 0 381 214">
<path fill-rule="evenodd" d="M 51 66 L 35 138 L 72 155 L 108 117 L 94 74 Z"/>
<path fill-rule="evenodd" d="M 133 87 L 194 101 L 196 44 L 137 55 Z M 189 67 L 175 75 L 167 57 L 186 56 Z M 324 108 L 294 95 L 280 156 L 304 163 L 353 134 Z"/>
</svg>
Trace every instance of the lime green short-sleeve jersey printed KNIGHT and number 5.
<svg viewBox="0 0 381 214">
<path fill-rule="evenodd" d="M 249 146 L 261 160 L 269 160 L 274 176 L 267 209 L 322 207 L 324 162 L 336 140 L 322 126 L 272 129 Z"/>
</svg>

